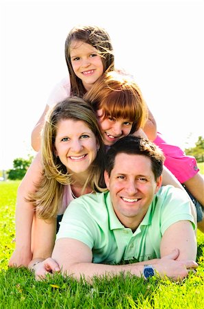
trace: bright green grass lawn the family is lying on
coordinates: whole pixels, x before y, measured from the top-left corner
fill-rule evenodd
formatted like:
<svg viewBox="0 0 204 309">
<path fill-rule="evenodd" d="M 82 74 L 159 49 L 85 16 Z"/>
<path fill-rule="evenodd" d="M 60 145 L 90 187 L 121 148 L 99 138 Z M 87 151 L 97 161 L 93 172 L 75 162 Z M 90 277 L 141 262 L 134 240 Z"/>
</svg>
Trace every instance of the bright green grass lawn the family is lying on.
<svg viewBox="0 0 204 309">
<path fill-rule="evenodd" d="M 0 308 L 204 308 L 204 234 L 198 232 L 199 269 L 183 282 L 138 277 L 81 279 L 55 275 L 36 282 L 25 268 L 8 268 L 14 249 L 14 209 L 19 181 L 0 183 Z"/>
</svg>

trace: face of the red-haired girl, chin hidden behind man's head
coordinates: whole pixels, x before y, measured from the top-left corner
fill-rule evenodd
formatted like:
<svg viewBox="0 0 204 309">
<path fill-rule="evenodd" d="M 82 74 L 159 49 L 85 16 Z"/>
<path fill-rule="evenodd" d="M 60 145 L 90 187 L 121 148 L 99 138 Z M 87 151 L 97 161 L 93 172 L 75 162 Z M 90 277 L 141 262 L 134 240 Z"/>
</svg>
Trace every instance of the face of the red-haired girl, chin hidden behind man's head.
<svg viewBox="0 0 204 309">
<path fill-rule="evenodd" d="M 103 143 L 111 146 L 118 139 L 129 135 L 133 122 L 129 119 L 114 118 L 114 117 L 101 117 L 103 110 L 97 111 L 98 122 L 103 136 Z"/>
</svg>

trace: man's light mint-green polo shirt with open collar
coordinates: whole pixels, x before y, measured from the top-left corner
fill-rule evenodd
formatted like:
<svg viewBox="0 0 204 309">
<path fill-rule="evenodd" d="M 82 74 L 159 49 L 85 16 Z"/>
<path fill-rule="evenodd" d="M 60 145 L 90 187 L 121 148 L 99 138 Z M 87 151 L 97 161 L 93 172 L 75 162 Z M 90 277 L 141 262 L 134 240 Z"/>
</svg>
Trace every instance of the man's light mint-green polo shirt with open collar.
<svg viewBox="0 0 204 309">
<path fill-rule="evenodd" d="M 84 242 L 92 249 L 94 263 L 151 260 L 160 258 L 162 235 L 180 220 L 189 220 L 195 227 L 188 197 L 170 185 L 160 188 L 134 233 L 118 220 L 109 192 L 86 194 L 67 207 L 56 239 Z"/>
</svg>

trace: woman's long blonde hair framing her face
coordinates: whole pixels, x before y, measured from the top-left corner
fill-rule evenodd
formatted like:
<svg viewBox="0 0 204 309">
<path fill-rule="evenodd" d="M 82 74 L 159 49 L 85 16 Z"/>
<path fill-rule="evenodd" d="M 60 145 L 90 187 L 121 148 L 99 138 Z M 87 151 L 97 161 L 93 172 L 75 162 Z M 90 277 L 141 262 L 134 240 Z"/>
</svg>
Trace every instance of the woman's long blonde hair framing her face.
<svg viewBox="0 0 204 309">
<path fill-rule="evenodd" d="M 84 122 L 99 144 L 97 157 L 89 168 L 89 175 L 84 183 L 84 189 L 90 185 L 94 192 L 103 191 L 105 183 L 104 150 L 101 132 L 97 123 L 96 115 L 87 102 L 81 98 L 67 98 L 56 104 L 47 114 L 47 119 L 42 129 L 42 166 L 43 173 L 40 183 L 36 184 L 36 192 L 30 195 L 29 201 L 36 207 L 39 218 L 54 218 L 58 214 L 59 205 L 62 203 L 64 185 L 73 183 L 71 174 L 68 174 L 66 166 L 55 156 L 55 137 L 58 123 L 64 119 L 73 119 Z"/>
</svg>

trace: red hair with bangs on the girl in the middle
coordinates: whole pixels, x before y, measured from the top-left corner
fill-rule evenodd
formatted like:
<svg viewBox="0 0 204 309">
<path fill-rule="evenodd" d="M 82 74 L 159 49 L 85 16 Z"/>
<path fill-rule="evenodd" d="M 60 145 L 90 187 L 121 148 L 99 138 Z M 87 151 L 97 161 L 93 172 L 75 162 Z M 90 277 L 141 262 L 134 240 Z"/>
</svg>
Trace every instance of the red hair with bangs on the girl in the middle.
<svg viewBox="0 0 204 309">
<path fill-rule="evenodd" d="M 102 109 L 101 117 L 129 119 L 133 122 L 131 133 L 146 123 L 148 109 L 142 93 L 131 76 L 110 71 L 104 73 L 84 95 L 94 111 Z"/>
</svg>

